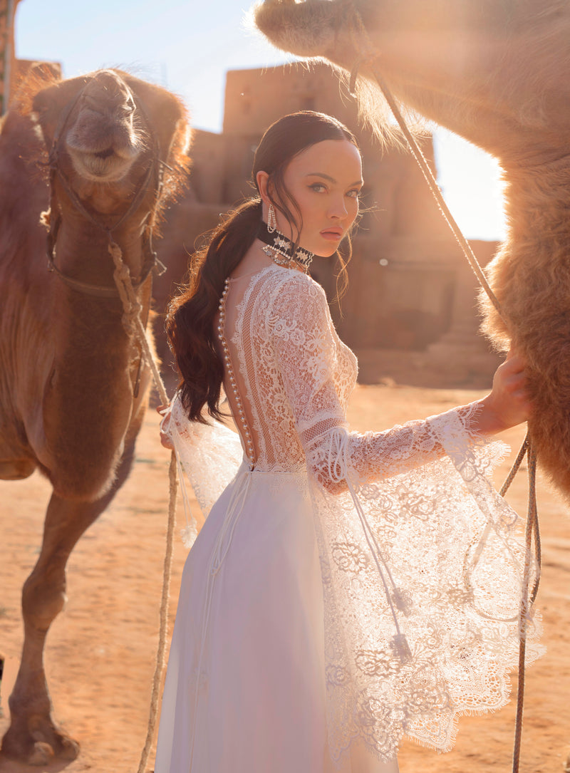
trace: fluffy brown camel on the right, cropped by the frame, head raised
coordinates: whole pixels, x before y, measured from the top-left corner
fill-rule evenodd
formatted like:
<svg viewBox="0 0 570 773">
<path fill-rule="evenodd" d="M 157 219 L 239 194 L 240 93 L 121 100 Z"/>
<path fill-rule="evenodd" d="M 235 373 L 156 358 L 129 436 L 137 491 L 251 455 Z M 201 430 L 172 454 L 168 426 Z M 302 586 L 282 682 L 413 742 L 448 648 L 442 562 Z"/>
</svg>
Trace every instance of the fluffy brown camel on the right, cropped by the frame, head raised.
<svg viewBox="0 0 570 773">
<path fill-rule="evenodd" d="M 393 130 L 373 69 L 401 104 L 499 159 L 509 233 L 489 276 L 504 320 L 483 298 L 483 329 L 527 359 L 538 460 L 570 496 L 570 6 L 265 0 L 254 18 L 278 48 L 346 72 L 359 63 L 360 106 L 379 133 Z"/>
</svg>

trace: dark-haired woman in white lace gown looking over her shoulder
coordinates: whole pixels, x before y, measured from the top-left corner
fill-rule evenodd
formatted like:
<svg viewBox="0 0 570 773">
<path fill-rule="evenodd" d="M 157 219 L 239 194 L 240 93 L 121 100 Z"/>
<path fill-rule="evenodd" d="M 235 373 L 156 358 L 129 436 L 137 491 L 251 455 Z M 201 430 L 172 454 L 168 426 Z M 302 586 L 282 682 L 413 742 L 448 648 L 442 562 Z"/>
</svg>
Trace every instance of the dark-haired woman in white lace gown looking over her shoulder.
<svg viewBox="0 0 570 773">
<path fill-rule="evenodd" d="M 253 176 L 258 198 L 218 226 L 167 320 L 183 380 L 163 440 L 211 512 L 155 773 L 394 773 L 403 734 L 446 749 L 457 713 L 507 700 L 524 550 L 482 438 L 526 419 L 522 363 L 472 405 L 348 431 L 356 359 L 306 271 L 356 220 L 357 143 L 288 115 Z M 217 421 L 222 383 L 239 440 Z"/>
</svg>

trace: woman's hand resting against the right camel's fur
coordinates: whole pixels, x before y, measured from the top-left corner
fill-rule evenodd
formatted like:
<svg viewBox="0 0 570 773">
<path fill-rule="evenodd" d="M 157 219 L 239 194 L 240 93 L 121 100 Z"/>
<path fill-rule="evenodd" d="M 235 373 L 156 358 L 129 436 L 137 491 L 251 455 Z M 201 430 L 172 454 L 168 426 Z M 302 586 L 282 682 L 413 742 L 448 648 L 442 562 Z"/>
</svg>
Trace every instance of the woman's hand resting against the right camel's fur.
<svg viewBox="0 0 570 773">
<path fill-rule="evenodd" d="M 480 401 L 479 430 L 482 434 L 496 434 L 531 415 L 532 404 L 527 395 L 527 377 L 524 359 L 509 352 L 507 359 L 493 376 L 493 389 Z"/>
</svg>

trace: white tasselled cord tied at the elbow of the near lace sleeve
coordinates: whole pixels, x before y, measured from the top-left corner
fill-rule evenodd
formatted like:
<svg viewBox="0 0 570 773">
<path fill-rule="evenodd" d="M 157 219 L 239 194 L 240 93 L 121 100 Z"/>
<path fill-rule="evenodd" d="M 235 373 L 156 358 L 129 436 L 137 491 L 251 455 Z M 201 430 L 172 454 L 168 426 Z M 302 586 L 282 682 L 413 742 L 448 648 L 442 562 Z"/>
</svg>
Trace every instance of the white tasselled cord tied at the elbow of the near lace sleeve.
<svg viewBox="0 0 570 773">
<path fill-rule="evenodd" d="M 330 433 L 329 440 L 329 453 L 327 457 L 329 478 L 333 482 L 344 481 L 350 492 L 350 496 L 352 497 L 354 507 L 358 514 L 358 519 L 360 520 L 360 525 L 362 526 L 364 539 L 367 541 L 368 549 L 370 550 L 374 564 L 376 564 L 378 575 L 384 585 L 384 593 L 386 594 L 386 600 L 390 607 L 392 619 L 394 620 L 394 628 L 396 629 L 396 633 L 392 637 L 394 655 L 397 655 L 402 663 L 408 662 L 411 660 L 411 650 L 408 645 L 408 640 L 400 630 L 396 609 L 401 611 L 404 615 L 409 615 L 409 604 L 401 588 L 396 587 L 390 567 L 388 567 L 386 561 L 381 556 L 381 550 L 377 543 L 376 536 L 374 536 L 372 527 L 370 526 L 370 523 L 368 523 L 366 513 L 360 504 L 360 499 L 358 499 L 357 492 L 350 480 L 348 458 L 348 432 L 342 427 L 335 427 Z"/>
</svg>

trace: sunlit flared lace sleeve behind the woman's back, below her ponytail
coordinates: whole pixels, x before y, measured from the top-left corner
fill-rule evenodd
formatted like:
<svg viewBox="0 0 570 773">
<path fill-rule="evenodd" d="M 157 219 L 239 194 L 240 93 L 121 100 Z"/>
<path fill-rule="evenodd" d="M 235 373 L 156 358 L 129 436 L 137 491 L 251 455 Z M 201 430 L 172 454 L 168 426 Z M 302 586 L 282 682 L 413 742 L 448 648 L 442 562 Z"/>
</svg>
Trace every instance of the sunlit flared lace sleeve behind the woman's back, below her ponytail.
<svg viewBox="0 0 570 773">
<path fill-rule="evenodd" d="M 196 538 L 196 521 L 189 509 L 182 473 L 186 473 L 206 517 L 240 466 L 241 441 L 220 421 L 210 421 L 210 424 L 189 421 L 178 393 L 162 418 L 161 430 L 168 435 L 176 451 L 184 509 L 189 520 L 183 530 L 183 540 L 190 547 Z"/>
</svg>

